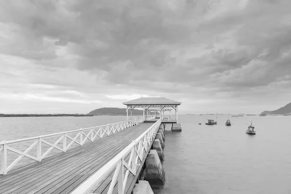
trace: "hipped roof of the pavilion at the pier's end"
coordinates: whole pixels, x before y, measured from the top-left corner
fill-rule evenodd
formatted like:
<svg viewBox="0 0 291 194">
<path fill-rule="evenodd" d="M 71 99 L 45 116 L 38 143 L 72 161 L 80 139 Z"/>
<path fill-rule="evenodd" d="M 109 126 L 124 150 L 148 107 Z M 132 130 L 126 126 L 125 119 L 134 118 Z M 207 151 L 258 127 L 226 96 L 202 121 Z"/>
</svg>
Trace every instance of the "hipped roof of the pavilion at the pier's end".
<svg viewBox="0 0 291 194">
<path fill-rule="evenodd" d="M 123 102 L 124 105 L 180 105 L 181 102 L 171 100 L 165 97 L 140 97 L 128 102 Z"/>
</svg>

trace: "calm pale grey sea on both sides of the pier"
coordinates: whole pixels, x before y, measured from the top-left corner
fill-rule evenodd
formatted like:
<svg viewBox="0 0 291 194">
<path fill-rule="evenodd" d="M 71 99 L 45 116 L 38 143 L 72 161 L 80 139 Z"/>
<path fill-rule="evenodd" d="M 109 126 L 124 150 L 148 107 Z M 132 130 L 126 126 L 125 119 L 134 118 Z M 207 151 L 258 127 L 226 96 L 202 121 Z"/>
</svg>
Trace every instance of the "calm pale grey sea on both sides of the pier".
<svg viewBox="0 0 291 194">
<path fill-rule="evenodd" d="M 217 125 L 205 125 L 207 118 Z M 232 126 L 225 126 L 226 119 Z M 0 118 L 0 141 L 125 121 L 126 116 Z M 252 120 L 257 135 L 245 134 Z M 165 185 L 155 194 L 291 194 L 291 117 L 179 115 L 166 132 Z M 202 123 L 202 125 L 198 125 Z"/>
</svg>

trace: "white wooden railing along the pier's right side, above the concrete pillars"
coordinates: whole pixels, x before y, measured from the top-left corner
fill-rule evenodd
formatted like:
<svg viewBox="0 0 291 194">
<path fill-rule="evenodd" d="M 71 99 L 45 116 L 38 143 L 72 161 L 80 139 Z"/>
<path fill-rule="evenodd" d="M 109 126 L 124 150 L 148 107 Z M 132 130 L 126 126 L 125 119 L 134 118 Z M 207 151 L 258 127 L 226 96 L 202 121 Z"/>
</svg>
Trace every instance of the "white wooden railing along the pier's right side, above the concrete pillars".
<svg viewBox="0 0 291 194">
<path fill-rule="evenodd" d="M 117 183 L 118 194 L 124 194 L 124 190 L 127 184 L 127 179 L 129 173 L 136 175 L 138 169 L 137 166 L 140 166 L 140 163 L 143 161 L 143 158 L 151 145 L 152 141 L 155 139 L 155 136 L 160 128 L 161 119 L 154 123 L 150 128 L 148 128 L 142 135 L 137 139 L 132 141 L 126 148 L 124 148 L 119 154 L 117 154 L 111 161 L 106 163 L 100 170 L 83 182 L 77 189 L 75 189 L 71 194 L 90 194 L 96 190 L 96 187 L 100 181 L 109 175 L 111 171 L 114 171 L 111 184 L 107 194 L 113 193 L 113 188 Z M 125 158 L 129 156 L 129 162 L 125 161 Z M 124 171 L 126 170 L 126 171 Z"/>
</svg>

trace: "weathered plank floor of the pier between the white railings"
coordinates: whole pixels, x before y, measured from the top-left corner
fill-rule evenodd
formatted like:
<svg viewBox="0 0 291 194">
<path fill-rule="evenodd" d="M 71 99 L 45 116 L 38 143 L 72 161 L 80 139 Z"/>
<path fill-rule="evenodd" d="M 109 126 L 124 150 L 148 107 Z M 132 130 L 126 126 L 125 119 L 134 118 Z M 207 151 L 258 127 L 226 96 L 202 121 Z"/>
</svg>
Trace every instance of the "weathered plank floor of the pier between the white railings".
<svg viewBox="0 0 291 194">
<path fill-rule="evenodd" d="M 0 176 L 1 194 L 69 194 L 153 123 L 142 123 Z M 114 172 L 114 171 L 113 171 Z M 108 190 L 113 172 L 94 193 Z M 129 178 L 130 179 L 130 178 Z M 134 178 L 131 177 L 132 182 Z M 130 181 L 126 193 L 130 193 Z"/>
</svg>

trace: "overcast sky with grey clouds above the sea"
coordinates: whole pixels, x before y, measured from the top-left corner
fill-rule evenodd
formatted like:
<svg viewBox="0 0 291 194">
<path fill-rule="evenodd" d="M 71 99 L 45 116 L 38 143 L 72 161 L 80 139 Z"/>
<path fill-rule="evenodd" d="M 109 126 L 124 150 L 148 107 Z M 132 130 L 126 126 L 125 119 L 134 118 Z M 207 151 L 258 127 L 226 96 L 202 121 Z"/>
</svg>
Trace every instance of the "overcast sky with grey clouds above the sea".
<svg viewBox="0 0 291 194">
<path fill-rule="evenodd" d="M 179 113 L 291 102 L 291 0 L 0 1 L 0 113 L 89 113 L 138 97 Z"/>
</svg>

